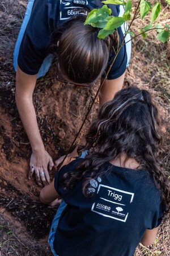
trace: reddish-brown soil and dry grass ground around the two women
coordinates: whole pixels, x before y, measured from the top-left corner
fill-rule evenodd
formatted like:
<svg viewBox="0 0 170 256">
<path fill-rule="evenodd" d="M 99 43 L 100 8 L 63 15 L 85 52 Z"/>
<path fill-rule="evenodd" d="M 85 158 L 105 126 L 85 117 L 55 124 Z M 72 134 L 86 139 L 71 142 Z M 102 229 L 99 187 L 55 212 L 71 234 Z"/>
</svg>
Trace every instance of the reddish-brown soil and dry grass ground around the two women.
<svg viewBox="0 0 170 256">
<path fill-rule="evenodd" d="M 56 208 L 40 203 L 40 188 L 35 179 L 27 179 L 31 147 L 15 105 L 12 52 L 26 6 L 25 0 L 2 0 L 0 3 L 0 255 L 3 256 L 51 255 L 46 237 L 56 212 Z M 170 20 L 168 7 L 164 5 L 163 8 L 162 20 Z M 146 40 L 136 39 L 125 79 L 125 86 L 137 85 L 150 90 L 159 106 L 167 170 L 170 169 L 169 49 L 169 43 L 158 43 L 154 33 Z M 73 142 L 97 85 L 83 89 L 59 84 L 50 78 L 52 74 L 53 68 L 37 82 L 33 100 L 45 148 L 55 160 Z M 96 100 L 84 130 L 98 106 Z M 50 176 L 54 173 L 52 170 Z M 135 255 L 170 255 L 169 234 L 169 218 L 165 218 L 155 245 L 139 246 Z"/>
</svg>

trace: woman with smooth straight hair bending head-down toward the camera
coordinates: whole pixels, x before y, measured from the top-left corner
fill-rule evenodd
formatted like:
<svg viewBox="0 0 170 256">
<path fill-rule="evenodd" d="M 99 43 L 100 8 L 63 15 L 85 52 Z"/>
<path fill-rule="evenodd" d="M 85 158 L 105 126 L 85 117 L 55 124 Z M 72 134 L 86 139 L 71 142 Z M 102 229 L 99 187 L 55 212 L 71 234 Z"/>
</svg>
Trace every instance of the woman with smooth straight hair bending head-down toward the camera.
<svg viewBox="0 0 170 256">
<path fill-rule="evenodd" d="M 97 38 L 98 28 L 84 26 L 88 11 L 103 6 L 100 0 L 29 0 L 14 51 L 16 71 L 16 105 L 32 147 L 29 177 L 35 172 L 39 185 L 50 181 L 48 169 L 54 163 L 37 125 L 32 94 L 37 78 L 48 71 L 57 57 L 54 76 L 59 81 L 91 86 L 104 76 L 118 44 L 124 38 L 124 25 L 104 40 Z M 112 15 L 122 15 L 122 6 L 109 5 Z M 129 36 L 129 35 L 127 35 Z M 128 40 L 128 39 L 127 39 Z M 120 52 L 100 92 L 100 104 L 111 100 L 122 88 L 131 47 Z M 127 48 L 128 47 L 128 48 Z M 56 162 L 56 166 L 61 159 Z"/>
</svg>

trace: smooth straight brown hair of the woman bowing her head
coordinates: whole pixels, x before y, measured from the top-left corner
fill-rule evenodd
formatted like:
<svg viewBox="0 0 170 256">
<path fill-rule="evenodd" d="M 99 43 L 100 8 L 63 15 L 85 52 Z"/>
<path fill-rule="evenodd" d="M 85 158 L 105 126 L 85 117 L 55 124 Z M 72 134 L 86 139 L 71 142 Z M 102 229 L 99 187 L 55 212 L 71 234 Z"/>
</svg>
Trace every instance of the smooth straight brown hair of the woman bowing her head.
<svg viewBox="0 0 170 256">
<path fill-rule="evenodd" d="M 86 15 L 76 15 L 53 33 L 50 53 L 56 53 L 61 71 L 78 84 L 97 80 L 108 64 L 112 46 L 117 46 L 117 33 L 97 38 L 98 28 L 86 25 Z M 57 47 L 57 41 L 59 46 Z"/>
</svg>

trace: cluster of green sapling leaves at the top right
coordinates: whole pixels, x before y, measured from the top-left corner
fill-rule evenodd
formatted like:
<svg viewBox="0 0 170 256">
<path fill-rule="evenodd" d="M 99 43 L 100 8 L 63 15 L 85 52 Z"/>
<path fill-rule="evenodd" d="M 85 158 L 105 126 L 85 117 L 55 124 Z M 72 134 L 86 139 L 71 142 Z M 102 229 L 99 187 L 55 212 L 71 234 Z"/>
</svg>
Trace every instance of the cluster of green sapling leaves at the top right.
<svg viewBox="0 0 170 256">
<path fill-rule="evenodd" d="M 170 0 L 166 0 L 166 2 L 170 5 Z M 150 30 L 156 30 L 158 32 L 158 40 L 162 43 L 165 43 L 169 39 L 169 31 L 170 26 L 165 24 L 163 27 L 160 24 L 154 24 L 155 20 L 158 18 L 161 11 L 161 3 L 156 1 L 154 4 L 151 4 L 148 0 L 141 0 L 138 2 L 138 7 L 135 10 L 135 14 L 133 18 L 131 18 L 132 11 L 132 1 L 124 1 L 124 0 L 107 0 L 103 1 L 104 5 L 100 9 L 92 10 L 86 19 L 84 25 L 88 24 L 92 27 L 100 28 L 98 38 L 104 39 L 106 36 L 113 34 L 116 28 L 120 27 L 126 21 L 131 19 L 129 28 L 125 31 L 125 34 L 130 34 L 133 38 L 138 36 L 135 35 L 133 31 L 130 31 L 131 24 L 134 19 L 137 18 L 145 18 L 148 13 L 151 13 L 150 24 L 147 24 L 145 27 L 139 29 L 139 35 L 142 35 L 143 38 L 146 38 L 147 32 Z M 122 5 L 124 6 L 124 14 L 122 17 L 113 16 L 111 9 L 107 5 Z M 140 15 L 138 15 L 140 14 Z"/>
</svg>

